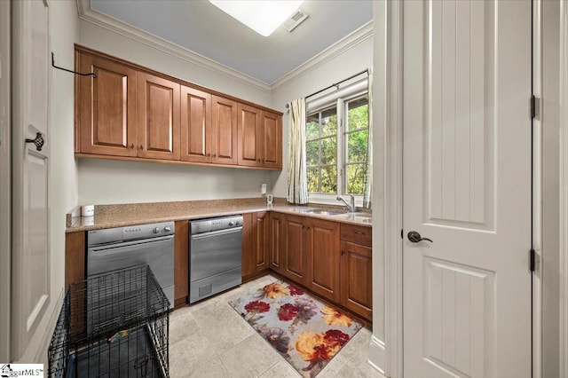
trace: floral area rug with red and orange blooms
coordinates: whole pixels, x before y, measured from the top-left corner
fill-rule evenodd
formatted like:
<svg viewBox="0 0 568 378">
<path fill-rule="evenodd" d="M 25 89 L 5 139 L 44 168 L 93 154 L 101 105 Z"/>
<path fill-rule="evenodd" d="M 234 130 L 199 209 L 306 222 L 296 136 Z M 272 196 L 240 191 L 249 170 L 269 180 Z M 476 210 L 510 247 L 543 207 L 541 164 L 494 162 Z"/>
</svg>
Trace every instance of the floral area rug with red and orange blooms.
<svg viewBox="0 0 568 378">
<path fill-rule="evenodd" d="M 298 287 L 276 281 L 229 304 L 304 377 L 315 377 L 363 327 Z"/>
</svg>

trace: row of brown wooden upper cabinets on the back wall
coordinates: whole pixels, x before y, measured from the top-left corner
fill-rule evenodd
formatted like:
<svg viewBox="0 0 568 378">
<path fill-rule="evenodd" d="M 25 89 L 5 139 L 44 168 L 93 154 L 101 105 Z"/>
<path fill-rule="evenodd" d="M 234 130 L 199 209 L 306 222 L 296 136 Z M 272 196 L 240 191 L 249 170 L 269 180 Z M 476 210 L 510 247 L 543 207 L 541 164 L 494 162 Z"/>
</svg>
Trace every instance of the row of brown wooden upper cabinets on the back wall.
<svg viewBox="0 0 568 378">
<path fill-rule="evenodd" d="M 282 169 L 282 114 L 75 46 L 78 157 Z"/>
</svg>

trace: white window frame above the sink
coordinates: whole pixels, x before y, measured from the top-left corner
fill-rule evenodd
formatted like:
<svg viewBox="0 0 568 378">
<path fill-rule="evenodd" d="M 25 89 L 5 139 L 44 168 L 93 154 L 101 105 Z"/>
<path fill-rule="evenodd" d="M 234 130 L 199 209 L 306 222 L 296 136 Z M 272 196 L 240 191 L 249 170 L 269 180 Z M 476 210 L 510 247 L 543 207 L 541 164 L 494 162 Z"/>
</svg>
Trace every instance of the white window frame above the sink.
<svg viewBox="0 0 568 378">
<path fill-rule="evenodd" d="M 359 130 L 366 130 L 366 129 L 357 129 L 357 130 L 349 130 L 349 131 L 347 130 L 347 115 L 349 114 L 348 106 L 349 106 L 350 102 L 355 101 L 359 98 L 365 98 L 365 97 L 367 98 L 367 106 L 369 106 L 369 104 L 368 104 L 368 91 L 367 91 L 367 89 L 365 89 L 365 90 L 360 90 L 360 91 L 354 91 L 354 92 L 349 93 L 345 96 L 331 99 L 330 101 L 322 103 L 319 106 L 317 106 L 316 108 L 311 109 L 309 113 L 306 110 L 306 114 L 305 114 L 306 119 L 307 119 L 308 114 L 319 114 L 318 115 L 319 122 L 321 122 L 321 112 L 326 110 L 329 107 L 332 107 L 332 106 L 335 105 L 336 114 L 337 114 L 337 130 L 336 130 L 336 134 L 335 134 L 335 138 L 337 140 L 337 159 L 336 159 L 337 193 L 329 194 L 329 193 L 310 193 L 310 192 L 308 192 L 308 202 L 309 203 L 337 205 L 338 204 L 338 201 L 336 199 L 337 196 L 348 195 L 346 193 L 347 192 L 347 179 L 346 178 L 347 178 L 347 165 L 348 165 L 348 163 L 346 162 L 347 161 L 347 143 L 348 143 L 347 135 L 354 133 L 354 132 L 357 132 Z M 319 127 L 321 127 L 321 126 L 319 125 Z M 367 120 L 367 132 L 369 133 L 369 136 L 370 136 L 370 128 L 369 128 L 368 120 Z M 306 145 L 307 145 L 308 141 L 319 140 L 321 138 L 322 137 L 320 135 L 319 135 L 318 138 L 312 138 L 312 139 L 306 138 Z M 319 148 L 321 148 L 321 147 L 319 147 Z M 321 154 L 321 150 L 319 150 L 319 154 Z M 368 154 L 368 151 L 367 151 L 367 154 Z M 306 164 L 306 166 L 307 166 L 307 164 Z M 326 166 L 328 166 L 328 164 L 326 164 Z M 319 164 L 319 167 L 322 167 L 322 165 Z M 321 185 L 321 182 L 319 182 L 319 185 Z M 363 194 L 353 194 L 353 196 L 355 197 L 355 204 L 359 207 L 363 206 Z"/>
</svg>

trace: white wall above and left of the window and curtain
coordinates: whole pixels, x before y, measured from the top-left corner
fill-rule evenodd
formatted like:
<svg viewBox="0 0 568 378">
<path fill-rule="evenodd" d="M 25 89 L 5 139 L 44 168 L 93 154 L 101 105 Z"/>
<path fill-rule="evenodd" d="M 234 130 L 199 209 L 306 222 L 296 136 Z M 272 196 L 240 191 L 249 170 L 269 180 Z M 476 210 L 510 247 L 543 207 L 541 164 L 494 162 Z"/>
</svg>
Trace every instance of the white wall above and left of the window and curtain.
<svg viewBox="0 0 568 378">
<path fill-rule="evenodd" d="M 282 172 L 274 183 L 274 196 L 286 197 L 288 172 L 288 110 L 286 104 L 296 98 L 308 96 L 332 83 L 357 74 L 373 64 L 373 38 L 351 45 L 333 59 L 327 60 L 306 74 L 274 88 L 272 91 L 272 108 L 284 113 L 282 117 Z"/>
</svg>

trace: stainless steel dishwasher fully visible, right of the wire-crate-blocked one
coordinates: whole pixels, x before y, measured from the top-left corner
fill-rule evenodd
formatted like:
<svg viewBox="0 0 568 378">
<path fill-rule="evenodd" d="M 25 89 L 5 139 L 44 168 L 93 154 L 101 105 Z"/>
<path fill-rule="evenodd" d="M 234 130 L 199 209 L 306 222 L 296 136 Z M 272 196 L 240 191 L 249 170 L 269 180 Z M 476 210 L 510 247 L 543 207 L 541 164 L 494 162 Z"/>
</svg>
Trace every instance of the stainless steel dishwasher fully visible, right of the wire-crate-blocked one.
<svg viewBox="0 0 568 378">
<path fill-rule="evenodd" d="M 241 285 L 242 216 L 191 222 L 189 303 Z"/>
</svg>

